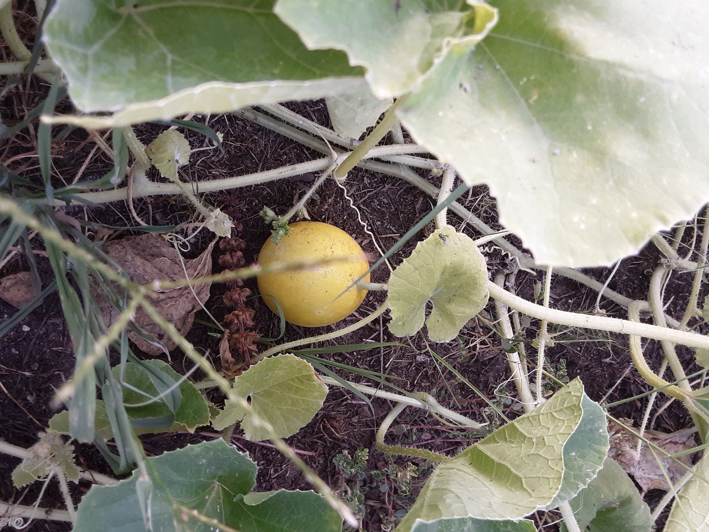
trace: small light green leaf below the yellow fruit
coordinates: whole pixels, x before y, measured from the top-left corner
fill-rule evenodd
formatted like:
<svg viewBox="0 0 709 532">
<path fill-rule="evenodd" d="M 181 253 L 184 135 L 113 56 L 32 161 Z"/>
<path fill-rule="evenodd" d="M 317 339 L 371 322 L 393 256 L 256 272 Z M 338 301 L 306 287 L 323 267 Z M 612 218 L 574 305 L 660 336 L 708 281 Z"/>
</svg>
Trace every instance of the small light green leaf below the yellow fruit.
<svg viewBox="0 0 709 532">
<path fill-rule="evenodd" d="M 328 387 L 305 360 L 295 355 L 277 355 L 236 377 L 234 391 L 250 401 L 253 414 L 228 401 L 212 425 L 221 430 L 242 421 L 247 439 L 264 440 L 269 434 L 254 416 L 268 421 L 277 436 L 286 438 L 313 419 L 323 406 Z"/>
</svg>

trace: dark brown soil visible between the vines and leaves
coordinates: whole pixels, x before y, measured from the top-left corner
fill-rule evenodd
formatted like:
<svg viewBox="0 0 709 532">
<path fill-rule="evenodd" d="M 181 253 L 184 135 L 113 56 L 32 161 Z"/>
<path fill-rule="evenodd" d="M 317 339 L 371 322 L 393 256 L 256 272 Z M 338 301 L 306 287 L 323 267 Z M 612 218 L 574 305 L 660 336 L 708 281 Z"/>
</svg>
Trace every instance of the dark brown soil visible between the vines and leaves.
<svg viewBox="0 0 709 532">
<path fill-rule="evenodd" d="M 12 126 L 21 121 L 24 114 L 43 99 L 47 87 L 37 79 L 8 86 L 4 99 L 0 101 L 0 111 L 6 126 Z M 62 104 L 66 106 L 66 104 Z M 306 102 L 291 105 L 292 109 L 302 113 L 319 123 L 328 125 L 325 106 L 321 101 Z M 65 111 L 68 107 L 65 107 Z M 250 123 L 233 115 L 196 118 L 224 135 L 225 153 L 218 150 L 198 152 L 191 158 L 189 166 L 184 167 L 183 179 L 217 179 L 234 175 L 249 174 L 262 170 L 281 167 L 283 165 L 304 162 L 321 157 L 298 143 L 272 133 L 257 123 Z M 36 128 L 37 121 L 13 138 L 0 145 L 0 157 L 12 172 L 28 179 L 40 179 L 36 159 Z M 150 142 L 162 131 L 162 126 L 143 126 L 138 130 L 144 141 Z M 56 133 L 56 131 L 55 131 Z M 193 148 L 208 145 L 203 137 L 196 133 L 186 133 Z M 108 138 L 110 141 L 110 137 Z M 52 155 L 55 165 L 55 186 L 63 186 L 62 179 L 70 182 L 82 166 L 82 179 L 96 179 L 111 167 L 111 161 L 101 150 L 92 152 L 95 144 L 84 131 L 73 131 L 63 140 L 53 145 Z M 152 176 L 157 179 L 156 176 Z M 436 177 L 424 175 L 432 182 Z M 256 187 L 243 187 L 223 194 L 208 194 L 206 201 L 215 206 L 225 206 L 242 228 L 238 236 L 247 242 L 245 259 L 247 263 L 255 260 L 260 246 L 269 236 L 269 227 L 262 221 L 259 211 L 269 206 L 277 214 L 284 214 L 293 206 L 299 197 L 309 187 L 308 182 L 298 179 L 281 179 Z M 362 213 L 362 219 L 367 222 L 384 249 L 389 249 L 406 233 L 413 224 L 420 221 L 431 209 L 431 200 L 415 187 L 397 181 L 392 177 L 382 176 L 366 170 L 354 170 L 347 180 L 348 194 Z M 484 221 L 495 224 L 496 211 L 493 201 L 486 196 L 484 187 L 475 187 L 468 199 L 463 196 L 461 201 L 467 208 L 473 209 L 476 216 Z M 135 210 L 147 223 L 175 224 L 194 219 L 194 211 L 186 201 L 178 197 L 156 197 L 138 199 Z M 480 206 L 484 206 L 482 209 Z M 373 257 L 378 256 L 371 237 L 362 229 L 357 221 L 357 214 L 350 208 L 342 194 L 342 190 L 329 180 L 318 189 L 316 196 L 307 204 L 308 213 L 316 221 L 333 223 L 354 236 L 362 247 Z M 225 209 L 226 210 L 226 209 Z M 125 202 L 86 209 L 83 206 L 69 206 L 62 209 L 65 214 L 75 218 L 106 223 L 116 226 L 130 226 L 133 222 Z M 451 216 L 451 215 L 450 215 Z M 462 227 L 462 231 L 473 237 L 474 233 L 462 221 L 450 217 L 450 223 Z M 203 231 L 203 233 L 206 233 Z M 201 252 L 210 236 L 200 233 L 191 242 L 190 256 Z M 396 265 L 403 257 L 408 256 L 415 245 L 415 240 L 424 238 L 422 232 L 414 240 L 407 243 L 396 253 L 393 263 Z M 46 257 L 41 255 L 41 241 L 33 240 L 33 249 L 38 252 L 37 262 L 43 276 L 43 286 L 52 280 L 52 270 Z M 218 251 L 214 253 L 215 270 L 218 271 Z M 620 269 L 610 282 L 611 289 L 627 297 L 647 297 L 649 272 L 657 261 L 659 254 L 654 248 L 647 248 L 636 257 L 623 261 Z M 512 272 L 514 265 L 499 253 L 489 254 L 489 270 L 493 275 L 498 271 Z M 28 262 L 23 253 L 16 253 L 11 260 L 4 263 L 0 276 L 9 275 L 28 269 Z M 588 275 L 603 281 L 608 276 L 608 270 L 597 269 L 587 272 Z M 374 282 L 384 282 L 388 277 L 386 267 L 379 267 L 372 274 Z M 542 280 L 542 272 L 532 275 L 525 271 L 517 272 L 515 289 L 523 297 L 531 298 L 535 283 Z M 246 279 L 246 287 L 255 293 L 255 282 Z M 674 276 L 665 291 L 665 300 L 672 299 L 668 311 L 681 316 L 681 305 L 684 304 L 691 288 L 691 277 Z M 222 295 L 226 288 L 214 285 L 208 309 L 215 316 L 223 316 L 225 308 Z M 279 341 L 289 341 L 305 336 L 313 336 L 325 331 L 333 331 L 345 324 L 353 323 L 358 318 L 374 311 L 383 301 L 382 292 L 370 292 L 364 304 L 350 318 L 335 326 L 306 330 L 296 326 L 288 326 L 283 338 Z M 563 277 L 554 277 L 552 282 L 552 306 L 559 309 L 574 311 L 591 311 L 596 300 L 596 293 Z M 269 309 L 254 297 L 248 301 L 255 309 L 256 325 L 254 331 L 264 337 L 279 336 L 279 320 Z M 623 316 L 623 309 L 608 301 L 602 306 L 611 315 Z M 16 312 L 13 307 L 0 301 L 0 316 L 2 320 L 11 318 Z M 492 305 L 486 309 L 487 316 L 495 316 Z M 386 316 L 386 314 L 385 314 Z M 679 317 L 678 316 L 678 317 Z M 199 313 L 198 319 L 208 321 L 206 314 Z M 508 363 L 506 354 L 501 348 L 498 337 L 486 336 L 489 332 L 480 320 L 472 320 L 460 333 L 457 340 L 447 344 L 427 345 L 421 336 L 409 339 L 396 338 L 386 328 L 387 318 L 374 321 L 369 326 L 331 342 L 330 345 L 346 345 L 364 342 L 401 342 L 402 346 L 381 347 L 371 350 L 359 350 L 356 353 L 334 353 L 320 355 L 324 360 L 333 360 L 352 367 L 382 372 L 393 384 L 411 392 L 429 392 L 437 398 L 440 404 L 461 412 L 480 421 L 491 421 L 494 426 L 500 419 L 484 413 L 485 403 L 459 379 L 457 375 L 432 357 L 428 349 L 435 351 L 444 358 L 464 379 L 473 383 L 496 401 L 508 417 L 520 414 L 515 409 L 515 401 L 507 401 L 506 397 L 516 397 L 511 384 L 501 386 L 508 379 Z M 532 322 L 527 331 L 527 340 L 535 336 L 535 326 Z M 210 336 L 212 328 L 196 323 L 187 338 L 203 352 L 218 353 L 219 338 Z M 565 331 L 557 337 L 557 343 L 548 350 L 548 363 L 558 377 L 573 379 L 580 377 L 586 387 L 586 392 L 594 401 L 606 403 L 618 401 L 627 397 L 647 392 L 649 386 L 631 367 L 627 352 L 627 340 L 623 337 L 605 335 L 602 338 L 591 337 L 582 331 Z M 318 345 L 318 347 L 323 344 Z M 327 345 L 327 344 L 325 344 Z M 529 347 L 530 352 L 533 349 Z M 659 345 L 650 343 L 646 354 L 654 367 L 661 362 Z M 691 361 L 689 350 L 681 352 L 686 361 Z M 214 358 L 217 361 L 218 355 Z M 167 358 L 164 358 L 167 362 Z M 218 362 L 218 361 L 217 361 Z M 172 353 L 172 365 L 178 372 L 185 372 L 189 364 L 184 360 L 179 350 Z M 687 364 L 687 366 L 690 366 Z M 35 311 L 6 333 L 0 343 L 0 438 L 13 445 L 27 448 L 35 443 L 37 434 L 48 426 L 50 417 L 55 413 L 50 404 L 54 390 L 66 382 L 72 375 L 74 360 L 72 340 L 69 338 L 65 320 L 62 316 L 59 297 L 51 294 Z M 691 368 L 690 368 L 691 371 Z M 340 372 L 342 377 L 355 382 L 364 382 L 362 377 Z M 198 376 L 199 378 L 199 376 Z M 372 384 L 372 383 L 369 383 Z M 213 397 L 218 400 L 218 397 Z M 617 418 L 634 419 L 636 423 L 644 411 L 647 399 L 635 399 L 610 409 L 610 414 Z M 356 395 L 344 389 L 332 387 L 323 409 L 301 429 L 296 435 L 288 438 L 288 443 L 294 450 L 313 467 L 328 484 L 346 492 L 347 482 L 353 485 L 352 478 L 346 478 L 341 470 L 333 465 L 333 459 L 341 453 L 354 455 L 358 448 L 369 450 L 367 470 L 370 474 L 364 480 L 364 489 L 369 489 L 364 495 L 363 528 L 367 531 L 386 529 L 397 511 L 411 504 L 413 497 L 425 481 L 425 475 L 430 467 L 422 460 L 402 457 L 391 458 L 376 450 L 374 434 L 376 427 L 391 409 L 391 404 L 375 399 L 369 404 Z M 659 416 L 653 427 L 664 432 L 678 431 L 691 426 L 691 419 L 686 411 L 674 402 Z M 391 431 L 389 441 L 404 445 L 415 445 L 435 450 L 440 453 L 452 454 L 467 447 L 474 440 L 471 433 L 461 434 L 452 428 L 442 426 L 435 418 L 425 411 L 407 409 L 397 420 L 397 430 Z M 165 450 L 182 448 L 188 443 L 217 438 L 220 435 L 210 427 L 203 427 L 194 434 L 172 434 L 143 436 L 143 444 L 148 455 L 157 455 Z M 272 489 L 311 489 L 301 472 L 283 458 L 270 443 L 251 442 L 245 440 L 237 431 L 232 443 L 240 450 L 249 453 L 259 466 L 257 490 Z M 86 469 L 111 474 L 110 469 L 101 455 L 89 445 L 77 445 L 77 462 Z M 27 489 L 16 489 L 11 484 L 11 472 L 19 460 L 6 455 L 0 460 L 0 500 L 7 502 L 22 501 L 22 504 L 33 504 L 40 495 L 40 486 L 35 483 Z M 413 493 L 408 494 L 408 483 L 401 481 L 396 486 L 391 477 L 376 478 L 376 472 L 395 471 L 395 468 L 406 467 L 412 463 L 418 470 L 418 477 L 412 477 Z M 396 475 L 396 473 L 394 474 Z M 400 475 L 401 479 L 401 475 Z M 387 481 L 386 487 L 381 488 Z M 72 495 L 78 502 L 82 494 L 89 488 L 89 482 L 82 481 L 72 487 Z M 363 489 L 363 491 L 364 491 Z M 659 500 L 662 493 L 647 494 L 649 504 Z M 59 489 L 55 482 L 50 482 L 42 495 L 41 506 L 61 508 L 63 506 Z M 537 526 L 549 523 L 553 516 L 539 514 L 534 516 Z M 69 530 L 68 524 L 38 522 L 33 530 L 63 531 Z M 553 530 L 547 527 L 545 530 Z"/>
</svg>

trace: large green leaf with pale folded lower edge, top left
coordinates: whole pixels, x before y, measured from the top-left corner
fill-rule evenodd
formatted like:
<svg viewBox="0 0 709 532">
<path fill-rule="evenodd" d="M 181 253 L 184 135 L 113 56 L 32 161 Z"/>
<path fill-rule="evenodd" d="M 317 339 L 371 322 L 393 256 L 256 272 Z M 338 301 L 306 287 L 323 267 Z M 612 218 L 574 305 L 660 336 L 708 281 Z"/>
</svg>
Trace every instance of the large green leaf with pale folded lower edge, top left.
<svg viewBox="0 0 709 532">
<path fill-rule="evenodd" d="M 57 0 L 44 29 L 90 126 L 216 113 L 361 86 L 344 53 L 310 51 L 269 0 Z"/>
</svg>

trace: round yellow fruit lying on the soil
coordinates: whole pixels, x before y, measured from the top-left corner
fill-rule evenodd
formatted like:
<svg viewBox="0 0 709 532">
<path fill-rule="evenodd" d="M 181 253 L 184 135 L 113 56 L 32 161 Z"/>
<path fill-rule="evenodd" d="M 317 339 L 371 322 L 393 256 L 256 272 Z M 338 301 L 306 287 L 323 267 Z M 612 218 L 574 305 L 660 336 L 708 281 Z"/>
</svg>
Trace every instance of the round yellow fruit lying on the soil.
<svg viewBox="0 0 709 532">
<path fill-rule="evenodd" d="M 261 267 L 352 258 L 257 276 L 259 292 L 269 309 L 278 314 L 273 298 L 277 299 L 286 321 L 303 327 L 330 325 L 350 316 L 367 295 L 367 290 L 352 286 L 369 270 L 362 248 L 345 231 L 329 223 L 306 221 L 289 227 L 290 233 L 279 243 L 274 244 L 271 238 L 266 240 L 259 253 Z M 369 274 L 362 280 L 368 282 Z"/>
</svg>

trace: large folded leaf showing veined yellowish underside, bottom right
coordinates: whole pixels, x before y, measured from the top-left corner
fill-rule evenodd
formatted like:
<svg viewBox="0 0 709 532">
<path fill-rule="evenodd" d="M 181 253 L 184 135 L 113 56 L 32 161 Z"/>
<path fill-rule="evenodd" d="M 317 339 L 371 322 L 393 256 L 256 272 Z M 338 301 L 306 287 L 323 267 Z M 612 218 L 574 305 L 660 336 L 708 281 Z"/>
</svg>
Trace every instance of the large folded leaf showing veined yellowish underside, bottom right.
<svg viewBox="0 0 709 532">
<path fill-rule="evenodd" d="M 601 406 L 574 379 L 530 414 L 437 467 L 397 531 L 413 530 L 417 520 L 519 520 L 574 497 L 605 460 L 602 417 Z"/>
</svg>

